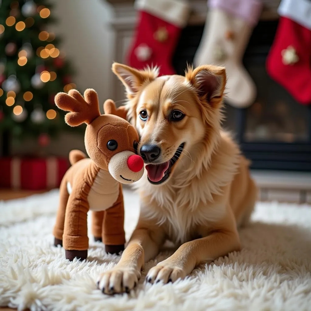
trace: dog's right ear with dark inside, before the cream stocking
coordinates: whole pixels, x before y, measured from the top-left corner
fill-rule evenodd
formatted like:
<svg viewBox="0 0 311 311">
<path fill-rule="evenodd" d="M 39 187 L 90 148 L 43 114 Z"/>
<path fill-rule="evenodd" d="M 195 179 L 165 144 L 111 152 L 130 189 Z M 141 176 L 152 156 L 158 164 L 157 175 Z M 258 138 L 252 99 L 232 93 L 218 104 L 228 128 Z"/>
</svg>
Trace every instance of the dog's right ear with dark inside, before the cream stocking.
<svg viewBox="0 0 311 311">
<path fill-rule="evenodd" d="M 226 85 L 225 67 L 203 65 L 195 69 L 188 67 L 186 79 L 196 89 L 202 100 L 211 105 L 222 102 Z"/>
</svg>

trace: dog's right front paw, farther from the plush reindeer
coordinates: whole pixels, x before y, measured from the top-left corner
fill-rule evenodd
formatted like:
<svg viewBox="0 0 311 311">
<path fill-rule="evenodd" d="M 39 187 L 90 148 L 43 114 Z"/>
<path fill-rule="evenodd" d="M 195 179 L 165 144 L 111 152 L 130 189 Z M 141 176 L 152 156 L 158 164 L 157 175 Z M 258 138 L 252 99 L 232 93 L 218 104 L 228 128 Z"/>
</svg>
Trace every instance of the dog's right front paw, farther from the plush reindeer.
<svg viewBox="0 0 311 311">
<path fill-rule="evenodd" d="M 151 284 L 162 281 L 166 284 L 168 282 L 175 282 L 178 279 L 183 279 L 186 275 L 184 269 L 175 262 L 164 260 L 149 270 L 146 281 Z"/>
</svg>

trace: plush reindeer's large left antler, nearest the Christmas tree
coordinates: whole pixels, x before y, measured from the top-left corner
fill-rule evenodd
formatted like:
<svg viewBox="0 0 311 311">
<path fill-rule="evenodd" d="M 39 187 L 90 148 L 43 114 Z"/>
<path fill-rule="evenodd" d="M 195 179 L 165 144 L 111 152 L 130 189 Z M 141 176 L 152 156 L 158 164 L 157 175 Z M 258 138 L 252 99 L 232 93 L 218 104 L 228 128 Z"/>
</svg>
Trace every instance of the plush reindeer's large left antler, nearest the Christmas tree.
<svg viewBox="0 0 311 311">
<path fill-rule="evenodd" d="M 100 116 L 97 93 L 93 89 L 87 89 L 84 98 L 77 90 L 70 90 L 68 94 L 58 93 L 55 104 L 62 110 L 70 111 L 65 116 L 65 121 L 70 126 L 90 124 Z"/>
</svg>

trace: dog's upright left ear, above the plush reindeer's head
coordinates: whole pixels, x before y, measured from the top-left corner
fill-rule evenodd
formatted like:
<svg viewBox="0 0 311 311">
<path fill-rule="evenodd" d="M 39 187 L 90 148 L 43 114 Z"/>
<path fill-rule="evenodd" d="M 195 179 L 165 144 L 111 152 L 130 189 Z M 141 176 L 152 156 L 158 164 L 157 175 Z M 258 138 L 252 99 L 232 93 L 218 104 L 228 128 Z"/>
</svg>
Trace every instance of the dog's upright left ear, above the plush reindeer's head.
<svg viewBox="0 0 311 311">
<path fill-rule="evenodd" d="M 135 95 L 144 83 L 153 81 L 159 75 L 157 67 L 137 70 L 119 63 L 112 64 L 112 71 L 125 86 L 129 98 Z"/>
</svg>

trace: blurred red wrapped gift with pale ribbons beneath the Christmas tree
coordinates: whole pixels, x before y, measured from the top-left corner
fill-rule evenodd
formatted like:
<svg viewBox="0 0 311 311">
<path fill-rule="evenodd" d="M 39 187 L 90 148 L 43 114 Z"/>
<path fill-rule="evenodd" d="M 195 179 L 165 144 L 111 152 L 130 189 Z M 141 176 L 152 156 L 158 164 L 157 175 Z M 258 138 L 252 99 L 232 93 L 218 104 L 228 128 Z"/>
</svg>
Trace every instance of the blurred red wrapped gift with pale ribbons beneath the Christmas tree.
<svg viewBox="0 0 311 311">
<path fill-rule="evenodd" d="M 0 187 L 26 190 L 58 188 L 69 167 L 60 157 L 0 158 Z"/>
</svg>

